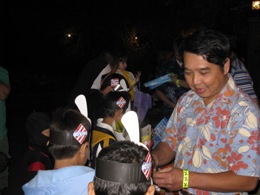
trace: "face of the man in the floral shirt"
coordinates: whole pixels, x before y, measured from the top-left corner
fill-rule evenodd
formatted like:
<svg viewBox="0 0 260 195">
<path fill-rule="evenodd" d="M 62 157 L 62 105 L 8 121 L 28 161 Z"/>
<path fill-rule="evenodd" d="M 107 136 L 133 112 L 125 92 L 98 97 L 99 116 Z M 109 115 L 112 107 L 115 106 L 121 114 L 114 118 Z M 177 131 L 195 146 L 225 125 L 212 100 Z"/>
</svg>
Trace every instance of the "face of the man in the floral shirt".
<svg viewBox="0 0 260 195">
<path fill-rule="evenodd" d="M 202 56 L 184 52 L 185 79 L 190 88 L 208 105 L 228 81 L 229 60 L 224 69 L 203 59 Z"/>
</svg>

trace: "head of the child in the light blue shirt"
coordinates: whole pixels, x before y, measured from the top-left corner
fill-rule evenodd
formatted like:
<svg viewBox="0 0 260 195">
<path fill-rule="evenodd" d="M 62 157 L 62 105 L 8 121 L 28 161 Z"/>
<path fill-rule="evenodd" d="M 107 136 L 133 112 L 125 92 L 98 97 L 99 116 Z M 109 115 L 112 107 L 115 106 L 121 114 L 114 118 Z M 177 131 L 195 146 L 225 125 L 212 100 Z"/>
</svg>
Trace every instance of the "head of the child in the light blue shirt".
<svg viewBox="0 0 260 195">
<path fill-rule="evenodd" d="M 78 164 L 87 160 L 90 138 L 90 122 L 79 111 L 58 109 L 50 124 L 50 143 L 48 149 L 55 160 L 71 159 L 81 154 Z"/>
</svg>

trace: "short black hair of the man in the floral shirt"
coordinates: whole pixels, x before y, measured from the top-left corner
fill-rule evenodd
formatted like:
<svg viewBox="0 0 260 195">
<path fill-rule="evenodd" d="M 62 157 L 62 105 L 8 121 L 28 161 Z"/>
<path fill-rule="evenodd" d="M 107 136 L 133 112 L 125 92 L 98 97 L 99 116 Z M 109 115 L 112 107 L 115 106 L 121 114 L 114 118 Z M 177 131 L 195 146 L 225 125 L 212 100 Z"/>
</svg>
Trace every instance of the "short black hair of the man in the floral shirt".
<svg viewBox="0 0 260 195">
<path fill-rule="evenodd" d="M 202 29 L 186 37 L 183 50 L 201 55 L 208 62 L 223 68 L 229 57 L 230 44 L 221 32 Z"/>
</svg>

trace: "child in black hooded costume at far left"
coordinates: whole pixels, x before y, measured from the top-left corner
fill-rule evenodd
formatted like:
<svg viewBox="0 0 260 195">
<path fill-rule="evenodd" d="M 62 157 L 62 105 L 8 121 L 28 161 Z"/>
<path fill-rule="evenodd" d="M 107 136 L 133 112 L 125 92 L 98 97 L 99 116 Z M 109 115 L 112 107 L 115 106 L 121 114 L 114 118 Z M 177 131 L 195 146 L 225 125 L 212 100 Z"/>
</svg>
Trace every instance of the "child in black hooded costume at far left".
<svg viewBox="0 0 260 195">
<path fill-rule="evenodd" d="M 25 129 L 29 146 L 22 160 L 22 184 L 30 181 L 39 170 L 53 169 L 54 162 L 47 149 L 50 120 L 44 112 L 33 112 L 27 117 Z"/>
</svg>

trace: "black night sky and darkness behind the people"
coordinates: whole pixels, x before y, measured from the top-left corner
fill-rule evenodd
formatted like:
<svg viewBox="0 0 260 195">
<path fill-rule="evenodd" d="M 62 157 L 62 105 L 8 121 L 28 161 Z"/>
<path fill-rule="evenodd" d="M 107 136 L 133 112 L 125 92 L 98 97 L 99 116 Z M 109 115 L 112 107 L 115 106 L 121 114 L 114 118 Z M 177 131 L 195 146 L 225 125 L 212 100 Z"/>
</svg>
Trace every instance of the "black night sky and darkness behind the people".
<svg viewBox="0 0 260 195">
<path fill-rule="evenodd" d="M 249 0 L 8 0 L 1 5 L 1 62 L 12 87 L 9 194 L 18 194 L 13 164 L 26 145 L 25 117 L 65 104 L 84 65 L 103 50 L 127 51 L 128 69 L 141 70 L 145 82 L 157 52 L 171 50 L 177 34 L 215 28 L 233 38 L 260 97 L 259 11 L 251 10 Z"/>
</svg>

